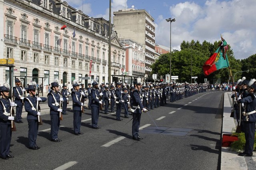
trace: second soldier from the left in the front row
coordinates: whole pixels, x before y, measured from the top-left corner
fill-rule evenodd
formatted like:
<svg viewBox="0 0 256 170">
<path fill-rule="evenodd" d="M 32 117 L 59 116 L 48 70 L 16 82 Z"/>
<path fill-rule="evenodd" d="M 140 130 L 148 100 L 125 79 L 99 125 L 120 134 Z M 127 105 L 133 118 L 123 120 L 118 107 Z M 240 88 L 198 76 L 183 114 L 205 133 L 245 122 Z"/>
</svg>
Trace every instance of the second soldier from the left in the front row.
<svg viewBox="0 0 256 170">
<path fill-rule="evenodd" d="M 24 108 L 28 113 L 28 148 L 38 150 L 40 147 L 36 144 L 36 138 L 38 134 L 38 115 L 40 116 L 41 113 L 36 109 L 36 103 L 37 101 L 45 102 L 46 98 L 36 97 L 36 82 L 32 82 L 32 85 L 28 85 L 27 93 L 29 95 L 24 100 Z"/>
</svg>

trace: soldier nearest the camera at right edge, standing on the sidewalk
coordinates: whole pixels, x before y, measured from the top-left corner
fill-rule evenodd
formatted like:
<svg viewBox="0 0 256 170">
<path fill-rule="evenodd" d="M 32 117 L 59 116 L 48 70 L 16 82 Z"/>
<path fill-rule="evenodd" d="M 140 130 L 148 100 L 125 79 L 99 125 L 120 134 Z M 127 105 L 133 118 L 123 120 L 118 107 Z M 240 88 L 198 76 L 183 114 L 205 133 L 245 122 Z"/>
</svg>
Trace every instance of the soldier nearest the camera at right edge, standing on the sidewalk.
<svg viewBox="0 0 256 170">
<path fill-rule="evenodd" d="M 244 152 L 240 152 L 238 156 L 252 156 L 254 150 L 254 135 L 255 135 L 255 123 L 256 123 L 256 95 L 254 94 L 256 89 L 256 79 L 252 79 L 248 83 L 248 93 L 241 98 L 238 97 L 238 102 L 244 103 L 245 111 L 243 112 L 243 128 L 245 135 L 245 147 Z"/>
</svg>

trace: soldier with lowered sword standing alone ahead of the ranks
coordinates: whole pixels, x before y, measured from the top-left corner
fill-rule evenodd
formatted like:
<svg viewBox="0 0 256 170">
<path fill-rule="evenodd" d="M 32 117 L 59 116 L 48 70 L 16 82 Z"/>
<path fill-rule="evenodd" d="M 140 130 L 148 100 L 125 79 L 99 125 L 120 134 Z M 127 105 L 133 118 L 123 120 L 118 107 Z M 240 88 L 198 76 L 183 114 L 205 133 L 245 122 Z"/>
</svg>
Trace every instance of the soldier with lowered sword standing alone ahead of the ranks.
<svg viewBox="0 0 256 170">
<path fill-rule="evenodd" d="M 140 118 L 142 111 L 146 112 L 147 109 L 143 107 L 141 99 L 140 99 L 140 79 L 133 82 L 134 84 L 134 91 L 132 91 L 131 95 L 131 103 L 133 109 L 132 115 L 132 139 L 133 140 L 140 140 L 143 139 L 139 136 L 139 128 L 140 128 Z"/>
</svg>

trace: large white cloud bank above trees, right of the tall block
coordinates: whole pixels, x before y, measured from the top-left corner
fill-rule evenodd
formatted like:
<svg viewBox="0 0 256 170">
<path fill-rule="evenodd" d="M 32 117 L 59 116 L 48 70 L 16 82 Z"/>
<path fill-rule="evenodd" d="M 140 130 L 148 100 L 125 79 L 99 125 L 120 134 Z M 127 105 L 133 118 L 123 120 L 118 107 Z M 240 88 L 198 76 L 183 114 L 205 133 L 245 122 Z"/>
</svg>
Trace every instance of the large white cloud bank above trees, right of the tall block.
<svg viewBox="0 0 256 170">
<path fill-rule="evenodd" d="M 170 6 L 172 18 L 172 48 L 180 49 L 180 43 L 220 40 L 220 34 L 231 45 L 236 59 L 256 53 L 256 0 L 208 0 L 204 6 L 194 2 Z M 156 43 L 170 46 L 170 23 L 158 16 Z"/>
</svg>

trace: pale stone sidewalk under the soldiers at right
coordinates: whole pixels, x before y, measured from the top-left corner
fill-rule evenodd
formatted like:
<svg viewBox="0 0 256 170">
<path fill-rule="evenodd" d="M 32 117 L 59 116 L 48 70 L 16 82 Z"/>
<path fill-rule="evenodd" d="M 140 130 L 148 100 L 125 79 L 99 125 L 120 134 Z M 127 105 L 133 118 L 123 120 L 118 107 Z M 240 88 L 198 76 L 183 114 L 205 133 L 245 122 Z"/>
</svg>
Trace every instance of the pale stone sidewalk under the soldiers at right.
<svg viewBox="0 0 256 170">
<path fill-rule="evenodd" d="M 224 94 L 224 108 L 223 108 L 223 122 L 222 122 L 222 136 L 223 134 L 232 134 L 232 129 L 236 128 L 233 117 L 230 117 L 231 113 L 231 92 Z M 248 160 L 243 156 L 238 156 L 239 152 L 232 151 L 228 147 L 222 147 L 221 149 L 221 166 L 223 170 L 247 170 L 251 169 L 248 167 Z M 254 156 L 253 156 L 254 157 Z M 253 157 L 250 157 L 250 162 L 254 162 Z M 248 157 L 249 158 L 249 157 Z M 254 165 L 255 169 L 255 163 Z"/>
</svg>

